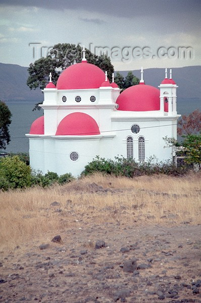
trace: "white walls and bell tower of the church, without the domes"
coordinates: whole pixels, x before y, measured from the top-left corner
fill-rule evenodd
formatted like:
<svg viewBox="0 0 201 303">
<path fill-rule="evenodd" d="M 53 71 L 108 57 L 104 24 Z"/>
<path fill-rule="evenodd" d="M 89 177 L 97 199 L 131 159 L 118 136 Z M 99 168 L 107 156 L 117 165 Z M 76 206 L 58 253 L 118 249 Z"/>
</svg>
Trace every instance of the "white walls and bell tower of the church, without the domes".
<svg viewBox="0 0 201 303">
<path fill-rule="evenodd" d="M 26 134 L 29 137 L 32 169 L 42 173 L 53 171 L 59 175 L 70 172 L 79 176 L 95 156 L 106 159 L 132 157 L 136 161 L 146 161 L 155 156 L 159 161 L 172 160 L 173 150 L 171 147 L 164 148 L 166 144 L 163 138 L 177 138 L 177 86 L 161 84 L 159 88 L 160 109 L 152 111 L 118 110 L 116 101 L 120 89 L 112 86 L 93 89 L 45 88 L 44 101 L 40 105 L 44 111 L 44 134 L 32 134 L 31 131 Z M 80 102 L 76 102 L 76 96 L 81 97 Z M 90 100 L 91 96 L 95 97 L 95 101 L 94 98 Z M 164 97 L 168 99 L 168 112 L 164 111 Z M 93 134 L 92 130 L 87 135 L 56 135 L 60 122 L 73 113 L 92 117 L 100 134 Z"/>
</svg>

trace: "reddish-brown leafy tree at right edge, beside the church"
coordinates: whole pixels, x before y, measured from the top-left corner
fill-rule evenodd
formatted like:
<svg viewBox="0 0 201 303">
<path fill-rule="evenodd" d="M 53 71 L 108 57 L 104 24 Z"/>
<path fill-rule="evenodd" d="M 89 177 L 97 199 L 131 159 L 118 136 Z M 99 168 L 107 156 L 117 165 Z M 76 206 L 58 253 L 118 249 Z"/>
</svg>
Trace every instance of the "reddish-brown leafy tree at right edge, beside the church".
<svg viewBox="0 0 201 303">
<path fill-rule="evenodd" d="M 177 133 L 181 135 L 201 132 L 201 112 L 195 110 L 188 116 L 183 115 L 178 122 Z"/>
</svg>

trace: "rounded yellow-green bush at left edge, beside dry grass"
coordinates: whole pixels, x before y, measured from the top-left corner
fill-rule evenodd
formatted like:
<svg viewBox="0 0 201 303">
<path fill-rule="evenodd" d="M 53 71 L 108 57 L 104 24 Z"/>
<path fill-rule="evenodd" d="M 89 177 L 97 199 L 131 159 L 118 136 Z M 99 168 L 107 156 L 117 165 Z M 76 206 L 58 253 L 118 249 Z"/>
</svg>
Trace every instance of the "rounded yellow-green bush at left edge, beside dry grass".
<svg viewBox="0 0 201 303">
<path fill-rule="evenodd" d="M 25 188 L 31 184 L 31 169 L 18 156 L 0 160 L 0 176 L 9 182 L 11 188 Z"/>
</svg>

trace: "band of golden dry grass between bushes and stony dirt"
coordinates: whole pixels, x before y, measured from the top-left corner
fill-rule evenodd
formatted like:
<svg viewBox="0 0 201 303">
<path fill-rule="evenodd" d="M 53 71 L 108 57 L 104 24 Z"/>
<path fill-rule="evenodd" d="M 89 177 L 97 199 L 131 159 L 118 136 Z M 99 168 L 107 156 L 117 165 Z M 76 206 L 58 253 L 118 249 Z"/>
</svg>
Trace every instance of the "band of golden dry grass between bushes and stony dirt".
<svg viewBox="0 0 201 303">
<path fill-rule="evenodd" d="M 1 248 L 50 239 L 75 226 L 76 220 L 85 224 L 201 224 L 200 179 L 200 174 L 135 179 L 96 174 L 49 189 L 0 192 Z M 60 206 L 50 206 L 54 201 Z"/>
</svg>

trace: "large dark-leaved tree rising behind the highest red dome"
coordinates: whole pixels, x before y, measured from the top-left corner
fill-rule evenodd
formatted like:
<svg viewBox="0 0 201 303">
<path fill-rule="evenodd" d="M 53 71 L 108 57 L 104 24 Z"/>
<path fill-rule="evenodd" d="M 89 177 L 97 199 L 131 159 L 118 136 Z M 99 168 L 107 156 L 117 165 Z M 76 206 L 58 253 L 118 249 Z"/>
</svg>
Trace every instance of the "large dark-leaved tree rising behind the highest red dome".
<svg viewBox="0 0 201 303">
<path fill-rule="evenodd" d="M 94 64 L 104 72 L 108 72 L 108 78 L 112 81 L 114 66 L 106 55 L 96 56 L 86 48 L 85 57 L 88 63 Z M 53 83 L 57 80 L 64 69 L 82 60 L 81 46 L 69 43 L 59 43 L 53 46 L 46 58 L 40 58 L 31 63 L 28 68 L 27 85 L 30 89 L 39 87 L 43 89 L 48 82 L 49 72 L 52 72 Z"/>
</svg>

